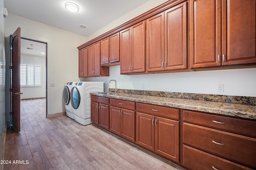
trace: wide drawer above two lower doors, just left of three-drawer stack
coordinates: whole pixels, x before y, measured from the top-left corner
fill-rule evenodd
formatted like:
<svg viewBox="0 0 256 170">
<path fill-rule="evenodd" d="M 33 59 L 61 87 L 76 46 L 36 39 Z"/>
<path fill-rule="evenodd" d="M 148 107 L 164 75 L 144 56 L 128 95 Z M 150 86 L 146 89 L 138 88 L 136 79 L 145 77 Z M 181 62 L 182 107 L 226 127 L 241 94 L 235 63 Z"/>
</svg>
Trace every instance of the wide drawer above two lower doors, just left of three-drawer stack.
<svg viewBox="0 0 256 170">
<path fill-rule="evenodd" d="M 180 109 L 175 109 L 171 107 L 137 103 L 137 111 L 151 113 L 153 115 L 159 115 L 173 119 L 180 119 Z"/>
</svg>

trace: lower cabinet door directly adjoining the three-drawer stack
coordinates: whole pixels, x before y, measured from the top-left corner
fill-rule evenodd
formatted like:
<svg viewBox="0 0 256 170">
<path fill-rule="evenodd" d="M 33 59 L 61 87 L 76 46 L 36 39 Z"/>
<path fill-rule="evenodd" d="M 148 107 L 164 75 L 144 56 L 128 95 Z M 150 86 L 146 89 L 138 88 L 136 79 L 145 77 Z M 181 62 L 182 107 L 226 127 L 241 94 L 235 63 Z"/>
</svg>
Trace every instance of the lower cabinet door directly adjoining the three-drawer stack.
<svg viewBox="0 0 256 170">
<path fill-rule="evenodd" d="M 179 122 L 156 117 L 155 152 L 179 162 Z"/>
</svg>

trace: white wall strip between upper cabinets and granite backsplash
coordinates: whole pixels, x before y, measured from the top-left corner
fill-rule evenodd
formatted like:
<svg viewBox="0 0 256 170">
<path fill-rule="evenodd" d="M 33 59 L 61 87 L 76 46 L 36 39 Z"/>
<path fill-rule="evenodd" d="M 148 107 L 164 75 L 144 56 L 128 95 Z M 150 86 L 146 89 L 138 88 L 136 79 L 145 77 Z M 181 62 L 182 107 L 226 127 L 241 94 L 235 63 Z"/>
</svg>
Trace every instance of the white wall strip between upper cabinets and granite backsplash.
<svg viewBox="0 0 256 170">
<path fill-rule="evenodd" d="M 120 75 L 120 66 L 112 66 L 109 77 L 86 78 L 86 81 L 105 81 L 104 90 L 108 90 L 115 85 L 109 83 L 111 79 L 116 80 L 120 89 L 256 97 L 256 68 Z M 223 93 L 217 92 L 217 84 L 224 84 Z"/>
</svg>

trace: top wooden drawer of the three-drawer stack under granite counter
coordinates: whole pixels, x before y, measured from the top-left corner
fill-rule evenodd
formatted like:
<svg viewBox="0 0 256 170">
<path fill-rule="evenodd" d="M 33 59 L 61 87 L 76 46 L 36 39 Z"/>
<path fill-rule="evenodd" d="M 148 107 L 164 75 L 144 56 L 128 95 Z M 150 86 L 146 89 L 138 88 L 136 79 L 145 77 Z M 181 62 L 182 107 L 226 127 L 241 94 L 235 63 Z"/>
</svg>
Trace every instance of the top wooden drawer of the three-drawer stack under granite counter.
<svg viewBox="0 0 256 170">
<path fill-rule="evenodd" d="M 256 121 L 243 120 L 220 115 L 211 115 L 196 111 L 183 111 L 184 121 L 231 131 L 250 137 L 256 137 Z"/>
</svg>

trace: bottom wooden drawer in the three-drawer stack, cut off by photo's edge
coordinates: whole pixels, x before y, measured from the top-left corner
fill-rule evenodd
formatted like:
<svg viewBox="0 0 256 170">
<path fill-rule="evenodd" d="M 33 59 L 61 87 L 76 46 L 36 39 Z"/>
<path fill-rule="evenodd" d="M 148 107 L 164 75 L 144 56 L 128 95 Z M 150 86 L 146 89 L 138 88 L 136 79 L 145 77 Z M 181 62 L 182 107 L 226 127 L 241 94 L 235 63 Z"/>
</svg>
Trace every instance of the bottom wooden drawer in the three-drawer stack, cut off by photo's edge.
<svg viewBox="0 0 256 170">
<path fill-rule="evenodd" d="M 183 164 L 192 170 L 252 170 L 226 159 L 183 145 Z"/>
</svg>

